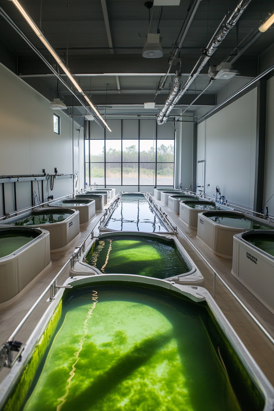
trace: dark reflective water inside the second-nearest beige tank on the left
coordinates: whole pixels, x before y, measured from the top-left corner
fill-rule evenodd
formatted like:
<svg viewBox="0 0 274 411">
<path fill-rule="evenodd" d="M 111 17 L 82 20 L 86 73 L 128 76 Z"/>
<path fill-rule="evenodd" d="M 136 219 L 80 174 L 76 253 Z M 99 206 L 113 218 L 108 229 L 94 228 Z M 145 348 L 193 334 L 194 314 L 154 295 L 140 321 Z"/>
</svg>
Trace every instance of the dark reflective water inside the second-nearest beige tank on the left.
<svg viewBox="0 0 274 411">
<path fill-rule="evenodd" d="M 8 223 L 14 224 L 15 226 L 34 226 L 40 224 L 51 224 L 64 221 L 72 214 L 67 211 L 52 211 L 52 210 L 41 210 L 39 212 L 31 213 L 23 218 L 18 218 L 16 221 Z"/>
</svg>

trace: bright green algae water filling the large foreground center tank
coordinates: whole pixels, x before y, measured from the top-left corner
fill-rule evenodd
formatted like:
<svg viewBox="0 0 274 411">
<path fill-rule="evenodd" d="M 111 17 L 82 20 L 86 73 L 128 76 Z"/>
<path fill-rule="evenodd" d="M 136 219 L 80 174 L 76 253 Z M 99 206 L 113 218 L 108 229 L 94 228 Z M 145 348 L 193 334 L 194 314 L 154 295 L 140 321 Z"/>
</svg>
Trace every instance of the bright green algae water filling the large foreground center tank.
<svg viewBox="0 0 274 411">
<path fill-rule="evenodd" d="M 69 293 L 22 409 L 240 411 L 218 354 L 219 346 L 226 361 L 226 345 L 210 336 L 208 321 L 204 306 L 157 290 Z"/>
</svg>

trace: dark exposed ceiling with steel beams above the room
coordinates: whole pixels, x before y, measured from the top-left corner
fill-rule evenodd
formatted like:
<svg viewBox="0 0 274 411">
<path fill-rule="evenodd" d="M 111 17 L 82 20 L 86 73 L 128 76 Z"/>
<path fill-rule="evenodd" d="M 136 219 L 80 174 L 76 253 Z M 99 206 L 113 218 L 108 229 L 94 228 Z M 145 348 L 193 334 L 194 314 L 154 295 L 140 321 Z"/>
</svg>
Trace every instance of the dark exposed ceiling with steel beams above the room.
<svg viewBox="0 0 274 411">
<path fill-rule="evenodd" d="M 166 5 L 162 9 L 159 6 L 147 9 L 144 3 L 144 0 L 20 2 L 77 79 L 81 89 L 90 97 L 99 112 L 102 115 L 106 114 L 108 118 L 157 115 L 172 88 L 175 71 L 180 69 L 181 64 L 181 81 L 187 79 L 201 55 L 201 49 L 207 46 L 228 8 L 235 9 L 239 0 L 200 1 L 180 50 L 180 60 L 174 60 L 174 65 L 160 90 L 159 84 L 168 72 L 170 53 L 191 2 L 181 0 L 179 6 Z M 53 57 L 13 2 L 0 0 L 0 7 L 58 71 L 58 65 Z M 250 33 L 258 33 L 261 21 L 273 11 L 273 1 L 251 0 L 207 66 L 172 110 L 172 116 L 180 115 L 206 87 L 210 80 L 207 74 L 209 67 L 219 65 L 223 60 L 227 60 L 230 54 L 233 57 L 237 55 L 241 51 L 242 40 Z M 159 24 L 163 49 L 161 58 L 142 56 L 149 30 L 150 13 Z M 50 101 L 60 97 L 70 108 L 70 113 L 71 107 L 74 106 L 74 113 L 79 115 L 79 118 L 81 114 L 85 114 L 85 109 L 78 108 L 81 105 L 75 97 L 73 98 L 71 92 L 2 16 L 0 23 L 0 62 Z M 187 108 L 182 118 L 185 121 L 197 120 L 222 99 L 274 64 L 273 43 L 274 29 L 270 28 L 258 36 L 234 62 L 233 69 L 238 70 L 239 74 L 229 80 L 215 79 L 203 95 Z M 67 82 L 67 76 L 61 70 L 60 75 Z M 77 93 L 77 90 L 74 91 Z M 155 102 L 155 108 L 144 109 L 145 102 Z"/>
</svg>

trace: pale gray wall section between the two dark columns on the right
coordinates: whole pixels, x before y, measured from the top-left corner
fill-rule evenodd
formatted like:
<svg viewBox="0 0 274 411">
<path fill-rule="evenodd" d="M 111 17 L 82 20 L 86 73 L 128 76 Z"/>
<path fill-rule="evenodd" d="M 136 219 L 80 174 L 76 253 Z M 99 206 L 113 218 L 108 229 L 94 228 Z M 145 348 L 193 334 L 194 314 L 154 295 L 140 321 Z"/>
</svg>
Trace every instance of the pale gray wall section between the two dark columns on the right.
<svg viewBox="0 0 274 411">
<path fill-rule="evenodd" d="M 205 191 L 216 185 L 228 201 L 253 208 L 257 89 L 198 125 L 197 160 L 205 160 Z M 209 185 L 209 186 L 207 186 Z"/>
</svg>

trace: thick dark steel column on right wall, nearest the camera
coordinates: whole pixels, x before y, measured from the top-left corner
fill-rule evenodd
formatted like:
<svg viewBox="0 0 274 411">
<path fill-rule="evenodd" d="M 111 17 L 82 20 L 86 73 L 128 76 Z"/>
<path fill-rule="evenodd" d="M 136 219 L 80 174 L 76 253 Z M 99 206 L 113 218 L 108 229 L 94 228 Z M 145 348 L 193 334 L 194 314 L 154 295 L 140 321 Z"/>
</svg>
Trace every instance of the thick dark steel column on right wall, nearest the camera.
<svg viewBox="0 0 274 411">
<path fill-rule="evenodd" d="M 253 211 L 262 212 L 265 176 L 266 79 L 257 83 L 256 159 Z"/>
</svg>

